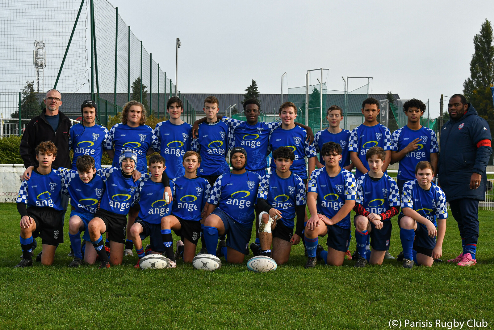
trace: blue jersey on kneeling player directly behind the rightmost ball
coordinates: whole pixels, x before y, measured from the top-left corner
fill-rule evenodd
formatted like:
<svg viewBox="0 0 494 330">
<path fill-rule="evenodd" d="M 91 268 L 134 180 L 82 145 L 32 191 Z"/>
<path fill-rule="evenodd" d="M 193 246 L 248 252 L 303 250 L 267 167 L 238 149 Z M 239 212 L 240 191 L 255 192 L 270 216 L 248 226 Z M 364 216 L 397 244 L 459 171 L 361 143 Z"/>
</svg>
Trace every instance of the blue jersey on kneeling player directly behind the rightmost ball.
<svg viewBox="0 0 494 330">
<path fill-rule="evenodd" d="M 257 198 L 266 199 L 268 204 L 281 212 L 281 222 L 288 228 L 295 227 L 295 206 L 305 205 L 305 184 L 295 173 L 286 179 L 276 171 L 261 178 Z"/>
</svg>

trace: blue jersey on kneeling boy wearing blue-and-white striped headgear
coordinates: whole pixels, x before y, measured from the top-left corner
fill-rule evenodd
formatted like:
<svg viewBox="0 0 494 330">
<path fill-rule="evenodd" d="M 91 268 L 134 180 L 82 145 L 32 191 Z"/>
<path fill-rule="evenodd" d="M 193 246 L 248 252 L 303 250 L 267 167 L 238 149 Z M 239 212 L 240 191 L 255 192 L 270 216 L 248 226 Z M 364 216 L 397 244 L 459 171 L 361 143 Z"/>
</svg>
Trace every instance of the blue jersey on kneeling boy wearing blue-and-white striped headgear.
<svg viewBox="0 0 494 330">
<path fill-rule="evenodd" d="M 123 215 L 127 215 L 130 206 L 133 205 L 134 194 L 141 181 L 144 178 L 149 178 L 148 173 L 142 173 L 141 178 L 134 182 L 132 176 L 128 179 L 125 178 L 122 170 L 118 167 L 101 168 L 96 173 L 101 175 L 106 186 L 100 208 Z"/>
</svg>

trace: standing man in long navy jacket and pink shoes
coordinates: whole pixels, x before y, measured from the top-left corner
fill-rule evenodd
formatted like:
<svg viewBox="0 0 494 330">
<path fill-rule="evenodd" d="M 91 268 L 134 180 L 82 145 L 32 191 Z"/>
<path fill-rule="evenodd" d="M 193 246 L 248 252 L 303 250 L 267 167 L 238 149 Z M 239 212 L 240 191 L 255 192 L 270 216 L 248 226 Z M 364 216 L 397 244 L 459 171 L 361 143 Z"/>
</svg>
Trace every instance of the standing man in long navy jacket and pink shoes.
<svg viewBox="0 0 494 330">
<path fill-rule="evenodd" d="M 451 119 L 441 128 L 438 176 L 462 239 L 463 253 L 452 260 L 474 265 L 479 200 L 485 200 L 486 167 L 493 151 L 491 130 L 463 95 L 450 98 L 448 112 Z"/>
</svg>

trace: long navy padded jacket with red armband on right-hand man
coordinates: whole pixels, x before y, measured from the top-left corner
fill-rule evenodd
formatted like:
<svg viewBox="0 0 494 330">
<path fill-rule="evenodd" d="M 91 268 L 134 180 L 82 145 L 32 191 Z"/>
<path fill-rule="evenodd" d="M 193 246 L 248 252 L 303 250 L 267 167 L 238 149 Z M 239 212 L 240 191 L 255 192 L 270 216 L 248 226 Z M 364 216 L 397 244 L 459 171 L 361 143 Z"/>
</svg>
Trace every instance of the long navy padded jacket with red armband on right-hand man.
<svg viewBox="0 0 494 330">
<path fill-rule="evenodd" d="M 463 116 L 450 119 L 441 128 L 438 173 L 448 201 L 460 198 L 485 200 L 486 167 L 493 149 L 488 145 L 477 147 L 482 140 L 491 140 L 491 130 L 470 103 Z M 480 174 L 482 180 L 479 188 L 470 189 L 470 177 L 474 172 Z"/>
</svg>

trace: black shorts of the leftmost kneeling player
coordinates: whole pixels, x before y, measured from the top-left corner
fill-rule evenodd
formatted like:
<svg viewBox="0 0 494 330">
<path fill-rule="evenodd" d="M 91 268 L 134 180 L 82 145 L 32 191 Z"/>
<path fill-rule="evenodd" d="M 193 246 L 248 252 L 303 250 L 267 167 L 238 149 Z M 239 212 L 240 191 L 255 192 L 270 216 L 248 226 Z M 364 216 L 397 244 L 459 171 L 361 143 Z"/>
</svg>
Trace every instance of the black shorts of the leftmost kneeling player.
<svg viewBox="0 0 494 330">
<path fill-rule="evenodd" d="M 28 207 L 28 215 L 34 219 L 36 230 L 33 238 L 41 237 L 42 244 L 57 245 L 63 243 L 62 212 L 49 207 Z"/>
</svg>

